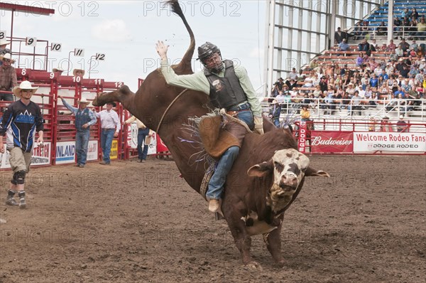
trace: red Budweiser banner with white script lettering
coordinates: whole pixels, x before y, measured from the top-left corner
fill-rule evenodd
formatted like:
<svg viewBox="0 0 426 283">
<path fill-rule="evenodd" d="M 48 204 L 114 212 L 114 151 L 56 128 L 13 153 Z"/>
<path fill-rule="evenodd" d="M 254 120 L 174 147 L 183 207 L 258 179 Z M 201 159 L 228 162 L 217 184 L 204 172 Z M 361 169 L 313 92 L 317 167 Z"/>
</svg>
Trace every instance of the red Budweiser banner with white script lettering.
<svg viewBox="0 0 426 283">
<path fill-rule="evenodd" d="M 312 131 L 311 151 L 316 153 L 353 152 L 354 140 L 352 132 Z"/>
</svg>

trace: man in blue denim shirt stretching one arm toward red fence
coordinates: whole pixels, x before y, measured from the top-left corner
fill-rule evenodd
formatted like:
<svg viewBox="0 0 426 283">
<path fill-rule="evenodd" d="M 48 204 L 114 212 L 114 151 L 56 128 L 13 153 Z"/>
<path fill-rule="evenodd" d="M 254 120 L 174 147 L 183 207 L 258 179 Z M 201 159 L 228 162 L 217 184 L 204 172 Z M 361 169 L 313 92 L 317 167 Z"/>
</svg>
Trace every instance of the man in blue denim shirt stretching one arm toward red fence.
<svg viewBox="0 0 426 283">
<path fill-rule="evenodd" d="M 87 108 L 87 105 L 90 103 L 89 101 L 85 99 L 79 100 L 77 102 L 78 107 L 72 107 L 64 100 L 62 95 L 58 95 L 58 97 L 62 100 L 63 105 L 75 115 L 75 129 L 77 129 L 75 134 L 75 153 L 77 154 L 77 164 L 75 164 L 75 166 L 83 168 L 84 165 L 86 165 L 87 160 L 90 126 L 96 124 L 96 116 L 92 110 Z"/>
</svg>

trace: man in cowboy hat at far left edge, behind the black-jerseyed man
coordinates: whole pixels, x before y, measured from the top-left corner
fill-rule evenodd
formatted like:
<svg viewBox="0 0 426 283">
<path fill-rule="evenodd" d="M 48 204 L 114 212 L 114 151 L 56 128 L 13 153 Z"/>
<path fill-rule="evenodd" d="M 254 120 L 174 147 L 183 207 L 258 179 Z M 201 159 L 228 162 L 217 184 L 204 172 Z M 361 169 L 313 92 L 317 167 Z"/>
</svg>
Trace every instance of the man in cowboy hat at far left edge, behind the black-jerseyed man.
<svg viewBox="0 0 426 283">
<path fill-rule="evenodd" d="M 10 92 L 13 87 L 18 85 L 16 80 L 16 70 L 11 66 L 11 54 L 6 53 L 2 56 L 0 66 L 0 100 L 13 101 L 13 95 Z"/>
</svg>

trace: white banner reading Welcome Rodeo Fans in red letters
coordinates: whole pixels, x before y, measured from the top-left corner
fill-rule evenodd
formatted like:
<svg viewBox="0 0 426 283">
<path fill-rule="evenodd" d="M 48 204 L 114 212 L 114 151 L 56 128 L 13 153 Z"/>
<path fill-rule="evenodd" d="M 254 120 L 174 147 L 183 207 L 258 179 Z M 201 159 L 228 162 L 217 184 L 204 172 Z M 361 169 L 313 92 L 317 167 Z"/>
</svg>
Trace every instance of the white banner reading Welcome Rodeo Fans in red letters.
<svg viewBox="0 0 426 283">
<path fill-rule="evenodd" d="M 425 133 L 354 132 L 354 152 L 425 152 Z"/>
</svg>

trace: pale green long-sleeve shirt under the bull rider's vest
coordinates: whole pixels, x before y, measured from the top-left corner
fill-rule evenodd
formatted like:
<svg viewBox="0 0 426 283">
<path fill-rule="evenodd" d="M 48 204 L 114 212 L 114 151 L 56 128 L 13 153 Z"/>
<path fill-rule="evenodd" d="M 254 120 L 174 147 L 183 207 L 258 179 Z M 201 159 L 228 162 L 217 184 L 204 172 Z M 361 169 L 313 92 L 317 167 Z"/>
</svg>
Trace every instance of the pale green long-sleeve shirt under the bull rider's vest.
<svg viewBox="0 0 426 283">
<path fill-rule="evenodd" d="M 256 92 L 254 92 L 253 85 L 251 85 L 249 75 L 247 71 L 241 65 L 234 65 L 234 70 L 236 77 L 239 79 L 240 85 L 244 90 L 244 93 L 247 95 L 247 101 L 249 101 L 251 111 L 253 115 L 257 117 L 262 117 L 262 107 L 261 102 L 259 102 Z M 204 71 L 200 71 L 191 75 L 176 75 L 175 71 L 170 68 L 167 58 L 161 60 L 161 72 L 164 75 L 165 81 L 169 85 L 174 85 L 176 87 L 185 87 L 190 90 L 197 90 L 204 92 L 205 94 L 210 94 L 210 84 L 204 75 Z M 224 78 L 224 71 L 222 70 L 218 77 Z"/>
</svg>

